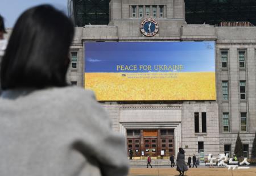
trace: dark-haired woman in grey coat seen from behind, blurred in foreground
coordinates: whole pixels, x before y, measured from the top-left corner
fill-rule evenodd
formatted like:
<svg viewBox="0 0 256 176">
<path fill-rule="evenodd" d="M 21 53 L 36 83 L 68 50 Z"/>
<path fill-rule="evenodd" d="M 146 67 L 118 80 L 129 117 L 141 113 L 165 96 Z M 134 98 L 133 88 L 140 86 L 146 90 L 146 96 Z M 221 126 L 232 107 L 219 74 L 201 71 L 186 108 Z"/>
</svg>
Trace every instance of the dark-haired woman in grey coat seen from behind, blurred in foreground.
<svg viewBox="0 0 256 176">
<path fill-rule="evenodd" d="M 49 5 L 16 22 L 1 65 L 1 176 L 127 175 L 125 140 L 91 91 L 65 81 L 73 33 Z"/>
</svg>

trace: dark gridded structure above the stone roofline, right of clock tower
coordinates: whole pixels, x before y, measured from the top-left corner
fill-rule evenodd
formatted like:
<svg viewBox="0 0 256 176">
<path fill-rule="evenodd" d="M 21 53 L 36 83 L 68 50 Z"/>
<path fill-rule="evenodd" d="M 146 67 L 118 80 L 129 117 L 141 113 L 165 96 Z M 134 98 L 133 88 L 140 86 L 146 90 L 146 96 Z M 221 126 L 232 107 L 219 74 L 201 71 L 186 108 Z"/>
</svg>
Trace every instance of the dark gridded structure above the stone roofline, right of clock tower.
<svg viewBox="0 0 256 176">
<path fill-rule="evenodd" d="M 188 24 L 220 25 L 221 22 L 250 22 L 256 25 L 255 0 L 185 0 Z"/>
</svg>

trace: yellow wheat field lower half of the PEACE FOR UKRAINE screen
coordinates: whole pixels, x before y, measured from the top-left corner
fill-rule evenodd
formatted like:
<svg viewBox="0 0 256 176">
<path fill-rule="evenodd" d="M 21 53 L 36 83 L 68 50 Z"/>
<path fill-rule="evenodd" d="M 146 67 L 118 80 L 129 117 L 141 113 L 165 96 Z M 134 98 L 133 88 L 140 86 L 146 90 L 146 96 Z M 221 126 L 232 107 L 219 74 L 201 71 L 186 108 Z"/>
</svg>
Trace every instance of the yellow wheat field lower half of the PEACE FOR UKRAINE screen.
<svg viewBox="0 0 256 176">
<path fill-rule="evenodd" d="M 97 100 L 215 100 L 214 72 L 177 73 L 176 78 L 128 78 L 129 73 L 85 73 L 85 89 Z"/>
</svg>

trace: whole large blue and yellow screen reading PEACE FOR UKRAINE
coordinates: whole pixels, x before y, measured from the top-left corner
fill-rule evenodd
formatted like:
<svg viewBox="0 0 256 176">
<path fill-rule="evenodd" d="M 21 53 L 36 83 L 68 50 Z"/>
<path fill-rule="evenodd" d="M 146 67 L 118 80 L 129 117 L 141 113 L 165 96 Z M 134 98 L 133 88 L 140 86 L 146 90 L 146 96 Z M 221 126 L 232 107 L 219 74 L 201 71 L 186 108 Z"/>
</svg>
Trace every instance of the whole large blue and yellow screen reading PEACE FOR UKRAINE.
<svg viewBox="0 0 256 176">
<path fill-rule="evenodd" d="M 97 100 L 215 100 L 214 41 L 84 44 Z"/>
</svg>

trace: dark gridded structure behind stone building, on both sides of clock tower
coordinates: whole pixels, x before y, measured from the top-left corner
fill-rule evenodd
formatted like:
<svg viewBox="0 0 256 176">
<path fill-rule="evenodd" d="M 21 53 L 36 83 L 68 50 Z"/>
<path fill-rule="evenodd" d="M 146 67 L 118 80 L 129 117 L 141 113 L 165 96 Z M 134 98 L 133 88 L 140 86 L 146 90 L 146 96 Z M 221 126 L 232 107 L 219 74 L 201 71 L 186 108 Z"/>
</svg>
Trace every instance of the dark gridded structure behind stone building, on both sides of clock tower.
<svg viewBox="0 0 256 176">
<path fill-rule="evenodd" d="M 68 0 L 69 16 L 78 27 L 109 23 L 110 0 Z M 256 26 L 255 0 L 184 0 L 188 24 L 250 22 Z"/>
</svg>

